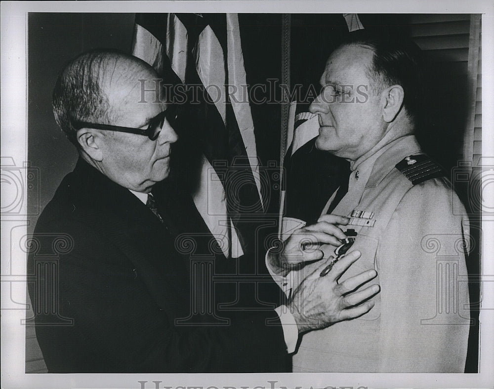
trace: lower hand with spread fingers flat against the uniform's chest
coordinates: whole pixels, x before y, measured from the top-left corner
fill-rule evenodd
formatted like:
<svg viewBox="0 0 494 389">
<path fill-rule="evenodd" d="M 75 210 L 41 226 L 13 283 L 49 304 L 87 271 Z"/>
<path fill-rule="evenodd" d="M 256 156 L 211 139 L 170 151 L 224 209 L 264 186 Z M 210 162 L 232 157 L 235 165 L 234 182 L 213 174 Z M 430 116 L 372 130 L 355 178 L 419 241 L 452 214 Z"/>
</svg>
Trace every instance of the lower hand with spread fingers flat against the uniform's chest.
<svg viewBox="0 0 494 389">
<path fill-rule="evenodd" d="M 341 275 L 360 256 L 360 252 L 352 251 L 339 259 L 324 277 L 320 276 L 322 267 L 315 269 L 295 289 L 288 307 L 297 322 L 299 333 L 325 328 L 371 310 L 374 302 L 366 300 L 379 292 L 378 285 L 351 292 L 373 279 L 377 275 L 375 270 L 365 271 L 338 284 Z"/>
</svg>

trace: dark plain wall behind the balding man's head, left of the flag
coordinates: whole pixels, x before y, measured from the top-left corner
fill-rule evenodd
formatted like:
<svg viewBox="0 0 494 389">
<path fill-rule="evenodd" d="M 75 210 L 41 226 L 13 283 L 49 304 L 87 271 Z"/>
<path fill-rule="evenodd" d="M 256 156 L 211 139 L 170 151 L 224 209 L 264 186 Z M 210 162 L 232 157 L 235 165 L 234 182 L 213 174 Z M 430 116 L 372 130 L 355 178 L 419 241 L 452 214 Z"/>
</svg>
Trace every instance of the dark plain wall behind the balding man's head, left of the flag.
<svg viewBox="0 0 494 389">
<path fill-rule="evenodd" d="M 134 18 L 133 13 L 28 15 L 28 159 L 40 172 L 40 212 L 77 161 L 75 147 L 58 128 L 51 109 L 58 71 L 65 62 L 92 48 L 130 52 Z M 28 206 L 33 200 L 28 199 Z M 36 219 L 31 220 L 28 233 Z"/>
</svg>

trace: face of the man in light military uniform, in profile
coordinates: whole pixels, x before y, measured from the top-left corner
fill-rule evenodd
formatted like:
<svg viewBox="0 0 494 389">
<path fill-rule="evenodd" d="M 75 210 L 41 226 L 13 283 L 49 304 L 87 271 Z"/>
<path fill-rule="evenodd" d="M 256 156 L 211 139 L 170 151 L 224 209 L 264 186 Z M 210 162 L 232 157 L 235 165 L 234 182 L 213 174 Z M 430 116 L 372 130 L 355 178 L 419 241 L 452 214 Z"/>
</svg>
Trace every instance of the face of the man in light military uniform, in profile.
<svg viewBox="0 0 494 389">
<path fill-rule="evenodd" d="M 384 136 L 382 100 L 367 76 L 372 56 L 359 45 L 341 46 L 329 56 L 322 91 L 309 108 L 319 115 L 317 148 L 355 161 Z"/>
</svg>

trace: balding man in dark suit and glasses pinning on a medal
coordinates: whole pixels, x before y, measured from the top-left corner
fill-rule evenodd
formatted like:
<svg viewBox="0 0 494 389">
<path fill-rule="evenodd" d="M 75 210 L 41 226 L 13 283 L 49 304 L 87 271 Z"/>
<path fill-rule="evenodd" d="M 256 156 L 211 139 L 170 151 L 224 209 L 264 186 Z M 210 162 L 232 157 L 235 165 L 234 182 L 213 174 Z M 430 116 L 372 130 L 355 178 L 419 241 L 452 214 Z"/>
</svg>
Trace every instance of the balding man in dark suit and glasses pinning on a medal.
<svg viewBox="0 0 494 389">
<path fill-rule="evenodd" d="M 190 325 L 190 263 L 176 239 L 185 228 L 180 216 L 193 223 L 200 217 L 161 182 L 177 116 L 163 96 L 142 102 L 139 80 L 149 90 L 156 79 L 145 62 L 102 50 L 77 57 L 58 77 L 55 118 L 80 158 L 43 210 L 28 260 L 38 276 L 29 285 L 33 305 L 56 296 L 55 312 L 37 309 L 35 318 L 48 371 L 283 370 L 300 333 L 371 309 L 378 288 L 350 292 L 376 273 L 338 284 L 359 257 L 351 253 L 327 277 L 307 278 L 275 311 L 231 315 L 223 326 Z M 49 278 L 40 270 L 41 251 L 54 247 L 57 234 L 67 246 Z M 55 288 L 43 290 L 48 278 Z M 69 325 L 54 325 L 53 314 Z"/>
</svg>

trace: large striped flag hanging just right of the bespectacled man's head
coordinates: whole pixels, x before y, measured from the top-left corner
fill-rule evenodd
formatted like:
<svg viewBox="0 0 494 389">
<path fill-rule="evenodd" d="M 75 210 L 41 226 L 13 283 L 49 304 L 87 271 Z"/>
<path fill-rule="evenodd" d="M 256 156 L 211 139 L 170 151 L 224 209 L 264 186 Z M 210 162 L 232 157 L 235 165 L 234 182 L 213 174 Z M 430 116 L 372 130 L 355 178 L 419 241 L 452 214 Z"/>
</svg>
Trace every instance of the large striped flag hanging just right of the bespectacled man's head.
<svg viewBox="0 0 494 389">
<path fill-rule="evenodd" d="M 238 15 L 138 14 L 132 54 L 189 97 L 194 89 L 179 142 L 183 164 L 196 160 L 198 172 L 185 179 L 223 254 L 241 257 L 253 250 L 243 218 L 262 214 L 263 201 Z"/>
</svg>

